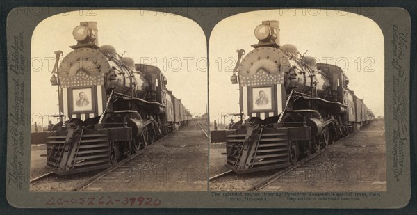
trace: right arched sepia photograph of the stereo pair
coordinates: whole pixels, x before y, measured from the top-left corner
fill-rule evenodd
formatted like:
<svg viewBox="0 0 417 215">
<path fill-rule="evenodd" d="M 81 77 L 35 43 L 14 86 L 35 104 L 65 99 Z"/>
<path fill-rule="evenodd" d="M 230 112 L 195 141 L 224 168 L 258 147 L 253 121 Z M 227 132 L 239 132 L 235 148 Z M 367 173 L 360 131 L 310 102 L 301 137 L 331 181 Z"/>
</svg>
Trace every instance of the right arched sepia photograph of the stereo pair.
<svg viewBox="0 0 417 215">
<path fill-rule="evenodd" d="M 386 191 L 384 37 L 360 14 L 259 10 L 215 26 L 210 190 Z"/>
</svg>

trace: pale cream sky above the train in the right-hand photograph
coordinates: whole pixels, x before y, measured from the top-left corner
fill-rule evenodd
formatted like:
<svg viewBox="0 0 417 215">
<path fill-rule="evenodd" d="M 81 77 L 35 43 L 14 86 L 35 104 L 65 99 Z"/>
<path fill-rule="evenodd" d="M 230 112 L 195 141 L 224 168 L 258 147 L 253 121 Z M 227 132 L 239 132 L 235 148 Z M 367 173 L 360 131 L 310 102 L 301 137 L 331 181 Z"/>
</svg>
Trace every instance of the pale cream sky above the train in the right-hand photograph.
<svg viewBox="0 0 417 215">
<path fill-rule="evenodd" d="M 341 67 L 350 79 L 348 88 L 364 99 L 375 117 L 384 116 L 384 38 L 379 26 L 354 13 L 286 9 L 241 13 L 214 27 L 208 45 L 211 122 L 239 113 L 238 85 L 230 81 L 236 50 L 253 50 L 250 45 L 258 42 L 254 29 L 265 20 L 279 21 L 281 45 L 293 44 L 301 54 L 308 50 L 305 56 L 318 58 L 318 63 Z"/>
</svg>

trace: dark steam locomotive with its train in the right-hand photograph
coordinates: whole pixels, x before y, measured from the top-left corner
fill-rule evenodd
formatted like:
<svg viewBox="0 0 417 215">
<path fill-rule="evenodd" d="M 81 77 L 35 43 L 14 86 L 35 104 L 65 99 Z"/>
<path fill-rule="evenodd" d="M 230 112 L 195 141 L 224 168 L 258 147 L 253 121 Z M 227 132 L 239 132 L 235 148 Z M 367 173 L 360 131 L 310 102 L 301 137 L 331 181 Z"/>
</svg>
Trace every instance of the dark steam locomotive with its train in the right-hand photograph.
<svg viewBox="0 0 417 215">
<path fill-rule="evenodd" d="M 291 166 L 374 119 L 340 67 L 280 45 L 278 21 L 263 21 L 254 35 L 259 42 L 243 59 L 238 50 L 231 77 L 239 85 L 240 116 L 249 118 L 211 132 L 211 142 L 226 142 L 227 168 Z"/>
</svg>

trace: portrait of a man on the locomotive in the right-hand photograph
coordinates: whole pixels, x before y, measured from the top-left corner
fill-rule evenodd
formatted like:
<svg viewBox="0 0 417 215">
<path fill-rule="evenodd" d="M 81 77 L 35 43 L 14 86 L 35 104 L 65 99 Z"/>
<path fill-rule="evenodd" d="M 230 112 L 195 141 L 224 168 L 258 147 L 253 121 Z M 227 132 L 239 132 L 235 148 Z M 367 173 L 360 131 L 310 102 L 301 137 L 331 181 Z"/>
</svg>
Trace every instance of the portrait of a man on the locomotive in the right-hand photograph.
<svg viewBox="0 0 417 215">
<path fill-rule="evenodd" d="M 252 110 L 272 110 L 273 97 L 271 87 L 252 88 Z"/>
</svg>

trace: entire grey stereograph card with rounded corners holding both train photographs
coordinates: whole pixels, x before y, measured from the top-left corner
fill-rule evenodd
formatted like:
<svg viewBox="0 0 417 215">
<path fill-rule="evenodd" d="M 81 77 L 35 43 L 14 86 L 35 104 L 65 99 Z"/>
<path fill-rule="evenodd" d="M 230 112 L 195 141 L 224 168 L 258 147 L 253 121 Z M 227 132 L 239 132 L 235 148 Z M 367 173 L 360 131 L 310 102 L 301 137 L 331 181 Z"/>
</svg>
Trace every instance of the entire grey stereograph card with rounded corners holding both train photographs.
<svg viewBox="0 0 417 215">
<path fill-rule="evenodd" d="M 26 7 L 7 22 L 13 207 L 409 201 L 407 10 Z"/>
</svg>

